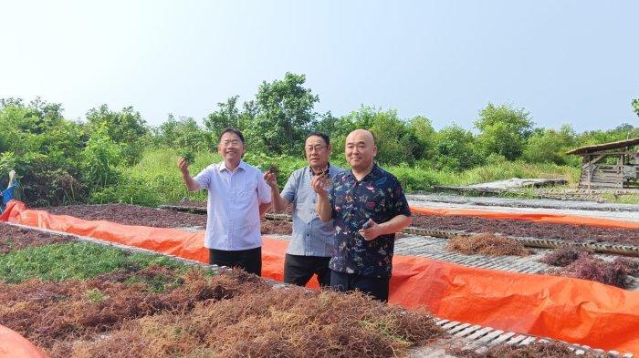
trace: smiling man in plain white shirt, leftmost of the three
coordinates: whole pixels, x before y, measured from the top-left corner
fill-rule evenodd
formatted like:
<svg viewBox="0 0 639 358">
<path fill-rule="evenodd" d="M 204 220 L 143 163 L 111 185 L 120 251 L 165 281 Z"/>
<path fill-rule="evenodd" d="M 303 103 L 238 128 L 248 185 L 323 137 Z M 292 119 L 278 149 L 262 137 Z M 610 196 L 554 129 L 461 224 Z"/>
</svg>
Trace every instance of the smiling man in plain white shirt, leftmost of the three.
<svg viewBox="0 0 639 358">
<path fill-rule="evenodd" d="M 224 161 L 211 164 L 195 178 L 186 159 L 178 160 L 182 179 L 191 191 L 208 190 L 204 247 L 209 262 L 262 274 L 262 236 L 259 220 L 270 207 L 270 187 L 262 172 L 246 164 L 242 133 L 225 128 L 217 152 Z"/>
</svg>

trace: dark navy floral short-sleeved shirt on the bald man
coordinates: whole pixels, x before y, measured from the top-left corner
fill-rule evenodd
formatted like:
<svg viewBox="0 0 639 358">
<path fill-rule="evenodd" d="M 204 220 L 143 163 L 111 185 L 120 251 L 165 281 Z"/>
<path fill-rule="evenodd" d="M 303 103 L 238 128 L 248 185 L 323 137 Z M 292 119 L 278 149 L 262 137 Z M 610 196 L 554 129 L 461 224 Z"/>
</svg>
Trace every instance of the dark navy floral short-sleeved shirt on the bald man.
<svg viewBox="0 0 639 358">
<path fill-rule="evenodd" d="M 393 174 L 376 164 L 361 180 L 351 170 L 339 173 L 329 191 L 335 226 L 330 270 L 366 277 L 390 277 L 395 234 L 367 241 L 358 230 L 372 219 L 378 224 L 397 215 L 411 216 L 403 189 Z"/>
</svg>

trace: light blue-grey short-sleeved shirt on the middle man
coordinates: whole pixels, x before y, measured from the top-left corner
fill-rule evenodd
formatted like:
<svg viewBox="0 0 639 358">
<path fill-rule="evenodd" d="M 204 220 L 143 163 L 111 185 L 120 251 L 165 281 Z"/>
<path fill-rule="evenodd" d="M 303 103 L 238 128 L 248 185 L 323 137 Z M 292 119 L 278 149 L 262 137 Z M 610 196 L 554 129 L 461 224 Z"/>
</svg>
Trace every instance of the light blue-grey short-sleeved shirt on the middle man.
<svg viewBox="0 0 639 358">
<path fill-rule="evenodd" d="M 344 169 L 329 167 L 330 179 Z M 310 168 L 295 170 L 284 186 L 282 198 L 293 204 L 293 237 L 287 253 L 300 256 L 330 257 L 334 251 L 333 220 L 323 222 L 315 211 L 317 193 L 310 187 Z"/>
</svg>

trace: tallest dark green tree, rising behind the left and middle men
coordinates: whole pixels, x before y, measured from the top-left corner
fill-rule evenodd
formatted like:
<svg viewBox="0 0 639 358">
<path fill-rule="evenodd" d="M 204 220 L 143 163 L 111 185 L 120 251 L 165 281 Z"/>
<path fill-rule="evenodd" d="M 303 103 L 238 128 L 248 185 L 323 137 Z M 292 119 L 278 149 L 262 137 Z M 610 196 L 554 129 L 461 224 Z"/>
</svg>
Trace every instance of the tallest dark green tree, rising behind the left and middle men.
<svg viewBox="0 0 639 358">
<path fill-rule="evenodd" d="M 303 87 L 304 75 L 287 72 L 284 79 L 266 81 L 257 89 L 255 120 L 247 128 L 247 137 L 257 146 L 276 154 L 297 154 L 317 114 L 313 111 L 319 97 Z"/>
</svg>

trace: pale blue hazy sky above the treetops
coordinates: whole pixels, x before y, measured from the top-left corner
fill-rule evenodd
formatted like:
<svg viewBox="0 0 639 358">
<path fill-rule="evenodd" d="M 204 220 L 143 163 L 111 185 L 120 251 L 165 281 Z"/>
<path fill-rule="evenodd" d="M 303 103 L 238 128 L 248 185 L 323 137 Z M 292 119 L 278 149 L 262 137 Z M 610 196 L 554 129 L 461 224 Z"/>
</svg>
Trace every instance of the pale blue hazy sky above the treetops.
<svg viewBox="0 0 639 358">
<path fill-rule="evenodd" d="M 639 126 L 637 14 L 631 0 L 0 0 L 0 97 L 69 119 L 132 106 L 157 126 L 293 72 L 336 116 L 472 128 L 492 102 L 543 128 Z"/>
</svg>

